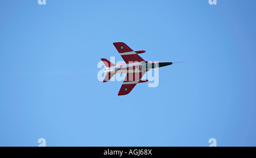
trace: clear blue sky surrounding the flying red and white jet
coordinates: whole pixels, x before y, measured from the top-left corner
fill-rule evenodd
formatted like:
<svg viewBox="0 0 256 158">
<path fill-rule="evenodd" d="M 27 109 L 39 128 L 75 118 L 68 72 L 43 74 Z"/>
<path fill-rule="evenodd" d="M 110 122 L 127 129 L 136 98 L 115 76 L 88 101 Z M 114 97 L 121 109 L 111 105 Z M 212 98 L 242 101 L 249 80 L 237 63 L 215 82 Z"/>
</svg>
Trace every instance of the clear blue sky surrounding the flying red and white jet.
<svg viewBox="0 0 256 158">
<path fill-rule="evenodd" d="M 256 146 L 256 1 L 2 0 L 0 146 Z M 159 86 L 98 81 L 113 42 Z"/>
</svg>

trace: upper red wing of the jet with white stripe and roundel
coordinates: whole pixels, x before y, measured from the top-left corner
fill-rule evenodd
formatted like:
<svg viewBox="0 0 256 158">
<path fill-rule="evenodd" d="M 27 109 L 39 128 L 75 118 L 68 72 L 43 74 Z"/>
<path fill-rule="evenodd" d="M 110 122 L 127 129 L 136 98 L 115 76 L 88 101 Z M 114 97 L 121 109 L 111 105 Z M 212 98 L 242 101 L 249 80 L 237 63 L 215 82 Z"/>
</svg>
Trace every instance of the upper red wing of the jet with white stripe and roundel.
<svg viewBox="0 0 256 158">
<path fill-rule="evenodd" d="M 126 63 L 144 61 L 136 52 L 123 42 L 114 42 L 113 45 Z"/>
</svg>

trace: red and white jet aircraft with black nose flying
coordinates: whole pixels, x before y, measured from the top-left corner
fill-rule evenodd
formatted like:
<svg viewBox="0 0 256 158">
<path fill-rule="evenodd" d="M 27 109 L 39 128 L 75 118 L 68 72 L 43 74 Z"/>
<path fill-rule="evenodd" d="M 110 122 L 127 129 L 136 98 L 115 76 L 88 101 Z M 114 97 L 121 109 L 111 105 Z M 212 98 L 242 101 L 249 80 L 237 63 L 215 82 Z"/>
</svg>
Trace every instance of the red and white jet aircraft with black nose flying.
<svg viewBox="0 0 256 158">
<path fill-rule="evenodd" d="M 141 80 L 142 76 L 157 67 L 172 65 L 172 62 L 147 62 L 144 61 L 138 54 L 145 53 L 144 50 L 133 51 L 129 46 L 123 42 L 113 43 L 121 57 L 126 63 L 114 65 L 107 59 L 102 58 L 107 72 L 103 82 L 108 82 L 110 78 L 116 73 L 127 73 L 122 87 L 119 90 L 118 96 L 127 95 L 136 86 L 137 83 L 147 82 L 148 80 Z"/>
</svg>

